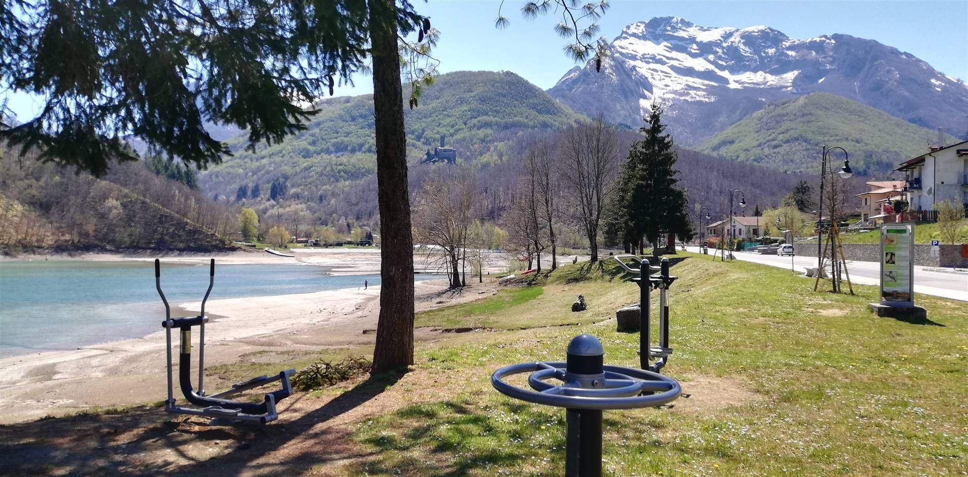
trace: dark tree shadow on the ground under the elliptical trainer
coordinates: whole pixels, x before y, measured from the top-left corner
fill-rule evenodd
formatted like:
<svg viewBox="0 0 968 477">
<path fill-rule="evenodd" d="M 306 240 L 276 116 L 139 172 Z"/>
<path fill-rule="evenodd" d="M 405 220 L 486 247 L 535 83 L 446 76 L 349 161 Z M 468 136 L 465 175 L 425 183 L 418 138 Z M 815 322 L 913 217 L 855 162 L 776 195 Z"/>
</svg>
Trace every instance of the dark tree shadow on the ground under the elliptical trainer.
<svg viewBox="0 0 968 477">
<path fill-rule="evenodd" d="M 215 427 L 160 408 L 46 418 L 0 427 L 0 475 L 297 475 L 362 457 L 347 431 L 326 423 L 372 400 L 403 373 L 371 376 L 317 409 L 264 428 Z M 293 401 L 295 400 L 295 401 Z M 213 456 L 214 454 L 214 456 Z"/>
</svg>

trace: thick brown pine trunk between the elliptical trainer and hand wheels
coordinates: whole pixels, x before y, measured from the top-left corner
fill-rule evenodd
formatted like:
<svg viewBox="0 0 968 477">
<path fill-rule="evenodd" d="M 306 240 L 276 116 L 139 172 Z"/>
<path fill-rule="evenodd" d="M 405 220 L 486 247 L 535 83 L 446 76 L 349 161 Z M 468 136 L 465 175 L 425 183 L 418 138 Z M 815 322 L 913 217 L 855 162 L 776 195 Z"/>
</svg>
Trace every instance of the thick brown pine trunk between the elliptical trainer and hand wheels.
<svg viewBox="0 0 968 477">
<path fill-rule="evenodd" d="M 382 249 L 373 373 L 413 364 L 413 237 L 407 182 L 407 135 L 393 0 L 370 0 L 377 196 Z"/>
</svg>

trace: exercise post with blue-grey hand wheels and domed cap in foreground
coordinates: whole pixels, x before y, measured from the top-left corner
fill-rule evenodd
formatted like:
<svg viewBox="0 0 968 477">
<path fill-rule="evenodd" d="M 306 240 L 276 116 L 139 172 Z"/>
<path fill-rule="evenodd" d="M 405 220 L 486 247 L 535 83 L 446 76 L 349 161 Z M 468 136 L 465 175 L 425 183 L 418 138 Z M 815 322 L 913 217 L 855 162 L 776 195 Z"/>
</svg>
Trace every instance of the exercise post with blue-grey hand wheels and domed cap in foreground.
<svg viewBox="0 0 968 477">
<path fill-rule="evenodd" d="M 675 401 L 679 382 L 659 373 L 603 365 L 605 350 L 591 335 L 568 343 L 564 363 L 521 363 L 499 369 L 491 384 L 500 393 L 521 401 L 565 408 L 565 465 L 567 477 L 602 474 L 602 410 L 655 407 Z M 531 389 L 504 382 L 518 373 L 530 373 Z M 556 378 L 562 384 L 545 382 Z"/>
</svg>

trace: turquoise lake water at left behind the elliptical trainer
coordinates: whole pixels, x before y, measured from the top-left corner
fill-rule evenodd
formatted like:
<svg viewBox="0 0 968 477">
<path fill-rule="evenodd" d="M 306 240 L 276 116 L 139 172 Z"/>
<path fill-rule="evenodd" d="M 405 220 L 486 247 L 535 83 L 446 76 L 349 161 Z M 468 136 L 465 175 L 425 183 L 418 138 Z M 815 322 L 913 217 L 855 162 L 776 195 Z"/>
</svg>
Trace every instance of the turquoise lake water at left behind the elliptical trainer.
<svg viewBox="0 0 968 477">
<path fill-rule="evenodd" d="M 379 284 L 379 275 L 331 275 L 312 265 L 216 265 L 209 300 Z M 163 263 L 169 304 L 199 302 L 207 286 L 207 265 Z M 152 262 L 0 262 L 0 357 L 138 338 L 161 329 L 164 319 Z"/>
</svg>

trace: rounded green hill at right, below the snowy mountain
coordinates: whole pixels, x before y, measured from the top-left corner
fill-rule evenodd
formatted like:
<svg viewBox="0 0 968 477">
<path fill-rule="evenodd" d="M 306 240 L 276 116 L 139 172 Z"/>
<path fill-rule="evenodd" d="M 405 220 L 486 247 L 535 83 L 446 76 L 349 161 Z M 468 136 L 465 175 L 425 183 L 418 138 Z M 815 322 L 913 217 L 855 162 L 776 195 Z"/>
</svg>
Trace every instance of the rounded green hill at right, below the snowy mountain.
<svg viewBox="0 0 968 477">
<path fill-rule="evenodd" d="M 819 171 L 821 145 L 850 153 L 858 172 L 879 173 L 927 152 L 937 132 L 873 107 L 828 93 L 767 104 L 701 150 L 784 171 Z M 946 136 L 946 142 L 956 141 Z M 836 151 L 838 161 L 842 156 Z"/>
</svg>

